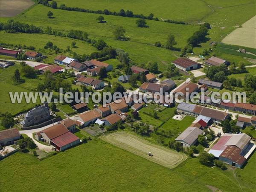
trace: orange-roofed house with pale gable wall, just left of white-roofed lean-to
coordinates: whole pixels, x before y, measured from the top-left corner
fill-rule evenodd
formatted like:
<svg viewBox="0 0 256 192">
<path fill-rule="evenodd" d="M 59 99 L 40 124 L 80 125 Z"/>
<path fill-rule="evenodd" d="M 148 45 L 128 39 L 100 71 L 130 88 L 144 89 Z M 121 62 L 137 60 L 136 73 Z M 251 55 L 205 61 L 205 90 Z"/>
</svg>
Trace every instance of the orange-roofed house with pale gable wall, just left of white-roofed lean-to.
<svg viewBox="0 0 256 192">
<path fill-rule="evenodd" d="M 81 127 L 86 127 L 87 125 L 94 123 L 101 114 L 97 110 L 86 111 L 81 113 L 76 120 L 80 123 Z"/>
</svg>

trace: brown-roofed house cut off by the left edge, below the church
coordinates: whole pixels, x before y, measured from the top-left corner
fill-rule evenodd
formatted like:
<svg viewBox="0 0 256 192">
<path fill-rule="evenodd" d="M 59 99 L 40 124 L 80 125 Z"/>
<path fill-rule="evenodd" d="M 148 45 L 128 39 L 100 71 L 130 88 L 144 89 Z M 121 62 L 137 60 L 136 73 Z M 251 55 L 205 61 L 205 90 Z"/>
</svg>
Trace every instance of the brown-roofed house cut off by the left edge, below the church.
<svg viewBox="0 0 256 192">
<path fill-rule="evenodd" d="M 20 131 L 17 128 L 0 131 L 0 145 L 6 146 L 13 144 L 20 139 Z"/>
</svg>

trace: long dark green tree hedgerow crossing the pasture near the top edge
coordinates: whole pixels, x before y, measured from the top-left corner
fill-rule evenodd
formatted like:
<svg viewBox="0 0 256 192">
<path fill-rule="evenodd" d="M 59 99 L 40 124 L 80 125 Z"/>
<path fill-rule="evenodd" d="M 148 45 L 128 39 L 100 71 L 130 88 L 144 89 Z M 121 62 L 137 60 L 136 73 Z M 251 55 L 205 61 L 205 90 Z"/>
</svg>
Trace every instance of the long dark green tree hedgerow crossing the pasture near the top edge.
<svg viewBox="0 0 256 192">
<path fill-rule="evenodd" d="M 52 3 L 49 3 L 48 0 L 39 0 L 38 3 L 41 3 L 44 6 L 49 6 L 52 8 L 58 8 L 58 9 L 67 10 L 67 11 L 79 11 L 79 12 L 114 15 L 114 16 L 121 16 L 121 17 L 135 17 L 140 19 L 160 21 L 157 17 L 154 18 L 153 13 L 150 13 L 148 16 L 145 16 L 143 14 L 134 14 L 133 11 L 130 11 L 130 10 L 125 11 L 124 9 L 121 9 L 119 12 L 116 12 L 116 11 L 112 12 L 112 11 L 109 11 L 108 9 L 104 9 L 103 11 L 102 10 L 93 11 L 90 9 L 79 8 L 79 7 L 68 7 L 65 4 L 61 4 L 60 6 L 58 6 L 56 1 L 52 1 Z M 187 24 L 187 23 L 184 23 L 183 21 L 175 21 L 175 20 L 164 20 L 164 22 L 176 23 L 176 24 L 182 24 L 182 25 Z"/>
</svg>

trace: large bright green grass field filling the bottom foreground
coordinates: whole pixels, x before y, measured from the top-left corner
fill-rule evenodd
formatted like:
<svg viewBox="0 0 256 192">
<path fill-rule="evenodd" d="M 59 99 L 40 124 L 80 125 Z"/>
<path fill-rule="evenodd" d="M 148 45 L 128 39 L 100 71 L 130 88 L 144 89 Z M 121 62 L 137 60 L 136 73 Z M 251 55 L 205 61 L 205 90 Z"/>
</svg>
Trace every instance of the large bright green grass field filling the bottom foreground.
<svg viewBox="0 0 256 192">
<path fill-rule="evenodd" d="M 239 184 L 246 191 L 253 191 L 256 181 L 251 160 L 249 172 L 238 170 L 243 177 Z M 0 171 L 1 191 L 210 191 L 207 185 L 240 190 L 233 170 L 205 167 L 197 158 L 168 169 L 99 139 L 42 161 L 17 152 L 1 161 Z"/>
</svg>

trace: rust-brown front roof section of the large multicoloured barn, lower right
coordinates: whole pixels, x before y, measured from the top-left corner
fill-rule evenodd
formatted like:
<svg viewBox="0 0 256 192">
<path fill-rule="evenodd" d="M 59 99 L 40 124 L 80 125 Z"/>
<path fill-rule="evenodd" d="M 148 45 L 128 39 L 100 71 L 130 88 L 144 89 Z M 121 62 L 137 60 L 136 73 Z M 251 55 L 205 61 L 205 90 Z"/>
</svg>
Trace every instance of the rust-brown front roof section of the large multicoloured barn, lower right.
<svg viewBox="0 0 256 192">
<path fill-rule="evenodd" d="M 228 146 L 220 155 L 222 158 L 228 158 L 236 164 L 243 164 L 246 160 L 243 156 L 240 155 L 241 149 L 236 146 Z"/>
</svg>

